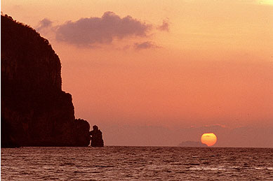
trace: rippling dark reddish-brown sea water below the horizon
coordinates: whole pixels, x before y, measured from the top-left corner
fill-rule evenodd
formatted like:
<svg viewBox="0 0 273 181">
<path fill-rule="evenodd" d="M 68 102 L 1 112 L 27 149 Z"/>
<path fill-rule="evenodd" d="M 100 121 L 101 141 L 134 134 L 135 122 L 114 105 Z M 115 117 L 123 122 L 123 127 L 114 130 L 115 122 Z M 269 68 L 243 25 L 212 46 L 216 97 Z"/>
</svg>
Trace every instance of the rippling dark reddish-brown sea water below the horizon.
<svg viewBox="0 0 273 181">
<path fill-rule="evenodd" d="M 4 148 L 1 180 L 273 180 L 273 149 Z"/>
</svg>

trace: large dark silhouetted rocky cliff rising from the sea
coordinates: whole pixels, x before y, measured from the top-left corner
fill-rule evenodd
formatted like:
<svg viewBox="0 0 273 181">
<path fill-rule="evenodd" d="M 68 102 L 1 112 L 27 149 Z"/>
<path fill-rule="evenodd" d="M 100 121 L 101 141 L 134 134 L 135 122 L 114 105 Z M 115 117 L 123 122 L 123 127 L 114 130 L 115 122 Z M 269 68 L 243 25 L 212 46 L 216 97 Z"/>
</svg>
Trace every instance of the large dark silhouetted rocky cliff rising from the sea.
<svg viewBox="0 0 273 181">
<path fill-rule="evenodd" d="M 75 120 L 60 71 L 45 38 L 1 15 L 1 147 L 89 145 L 90 126 Z"/>
</svg>

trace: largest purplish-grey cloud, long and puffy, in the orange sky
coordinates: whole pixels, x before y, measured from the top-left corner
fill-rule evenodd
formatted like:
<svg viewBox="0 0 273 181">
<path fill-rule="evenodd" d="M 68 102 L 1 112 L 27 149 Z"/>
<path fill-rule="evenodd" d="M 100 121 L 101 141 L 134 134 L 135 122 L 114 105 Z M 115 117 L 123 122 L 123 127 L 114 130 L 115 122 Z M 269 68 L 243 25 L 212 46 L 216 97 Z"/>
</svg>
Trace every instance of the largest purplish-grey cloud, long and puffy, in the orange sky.
<svg viewBox="0 0 273 181">
<path fill-rule="evenodd" d="M 147 36 L 152 24 L 140 22 L 131 16 L 119 17 L 105 12 L 102 17 L 81 18 L 58 26 L 56 40 L 78 46 L 92 46 L 95 43 L 112 43 L 114 38 Z"/>
</svg>

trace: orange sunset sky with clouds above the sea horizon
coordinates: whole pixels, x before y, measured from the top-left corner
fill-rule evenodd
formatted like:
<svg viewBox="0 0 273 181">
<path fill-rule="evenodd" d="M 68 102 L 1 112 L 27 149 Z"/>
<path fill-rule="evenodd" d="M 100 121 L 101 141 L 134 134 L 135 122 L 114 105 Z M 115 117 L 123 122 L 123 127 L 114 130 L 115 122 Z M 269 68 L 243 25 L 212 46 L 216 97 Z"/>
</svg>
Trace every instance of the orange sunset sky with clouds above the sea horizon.
<svg viewBox="0 0 273 181">
<path fill-rule="evenodd" d="M 105 145 L 273 147 L 273 0 L 1 1 Z"/>
</svg>

